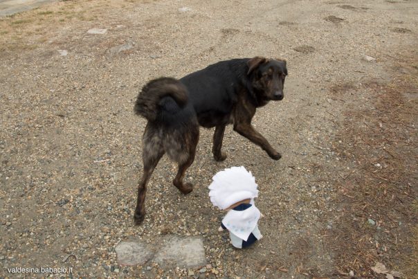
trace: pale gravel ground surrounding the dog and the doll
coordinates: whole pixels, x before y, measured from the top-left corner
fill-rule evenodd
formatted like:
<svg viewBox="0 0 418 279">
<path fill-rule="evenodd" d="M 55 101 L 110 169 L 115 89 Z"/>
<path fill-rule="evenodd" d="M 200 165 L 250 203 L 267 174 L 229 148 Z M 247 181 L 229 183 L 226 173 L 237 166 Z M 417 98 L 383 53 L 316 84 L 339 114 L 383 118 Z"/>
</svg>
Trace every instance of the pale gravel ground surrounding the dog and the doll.
<svg viewBox="0 0 418 279">
<path fill-rule="evenodd" d="M 355 170 L 338 156 L 343 138 L 336 138 L 347 110 L 373 106 L 358 98 L 367 95 L 361 84 L 416 74 L 417 8 L 416 1 L 95 0 L 1 19 L 0 277 L 15 276 L 11 267 L 72 267 L 74 277 L 348 275 L 325 243 L 343 210 L 335 181 Z M 228 127 L 228 159 L 217 163 L 213 130 L 201 129 L 186 179 L 194 191 L 183 196 L 172 186 L 176 165 L 163 158 L 149 182 L 145 221 L 134 226 L 140 87 L 255 55 L 287 60 L 284 100 L 253 121 L 282 159 Z M 395 67 L 408 55 L 415 64 Z M 358 96 L 336 97 L 343 87 Z M 253 172 L 266 216 L 263 240 L 243 251 L 217 233 L 223 213 L 208 199 L 212 176 L 233 165 Z M 118 265 L 120 241 L 152 244 L 160 235 L 203 237 L 208 266 Z"/>
</svg>

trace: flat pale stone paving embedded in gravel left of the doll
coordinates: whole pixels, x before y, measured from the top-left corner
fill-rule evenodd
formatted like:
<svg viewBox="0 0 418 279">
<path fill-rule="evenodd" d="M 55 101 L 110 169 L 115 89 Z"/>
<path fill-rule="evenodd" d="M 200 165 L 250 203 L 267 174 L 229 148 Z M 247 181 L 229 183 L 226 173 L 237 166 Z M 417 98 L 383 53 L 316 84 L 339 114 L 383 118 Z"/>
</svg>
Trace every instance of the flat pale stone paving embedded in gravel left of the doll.
<svg viewBox="0 0 418 279">
<path fill-rule="evenodd" d="M 120 242 L 116 248 L 118 262 L 122 265 L 143 265 L 148 261 L 161 267 L 192 268 L 206 264 L 205 249 L 201 237 L 167 235 L 146 244 L 140 240 Z"/>
</svg>

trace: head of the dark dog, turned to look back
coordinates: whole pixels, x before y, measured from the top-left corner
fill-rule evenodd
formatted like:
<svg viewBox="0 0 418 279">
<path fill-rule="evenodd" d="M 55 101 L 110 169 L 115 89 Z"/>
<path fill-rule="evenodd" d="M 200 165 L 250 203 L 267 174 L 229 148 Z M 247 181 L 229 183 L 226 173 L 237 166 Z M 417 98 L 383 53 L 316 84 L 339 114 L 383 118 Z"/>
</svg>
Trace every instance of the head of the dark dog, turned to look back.
<svg viewBox="0 0 418 279">
<path fill-rule="evenodd" d="M 259 98 L 266 101 L 283 99 L 284 79 L 287 75 L 286 60 L 254 57 L 248 60 L 247 65 L 248 78 Z"/>
</svg>

